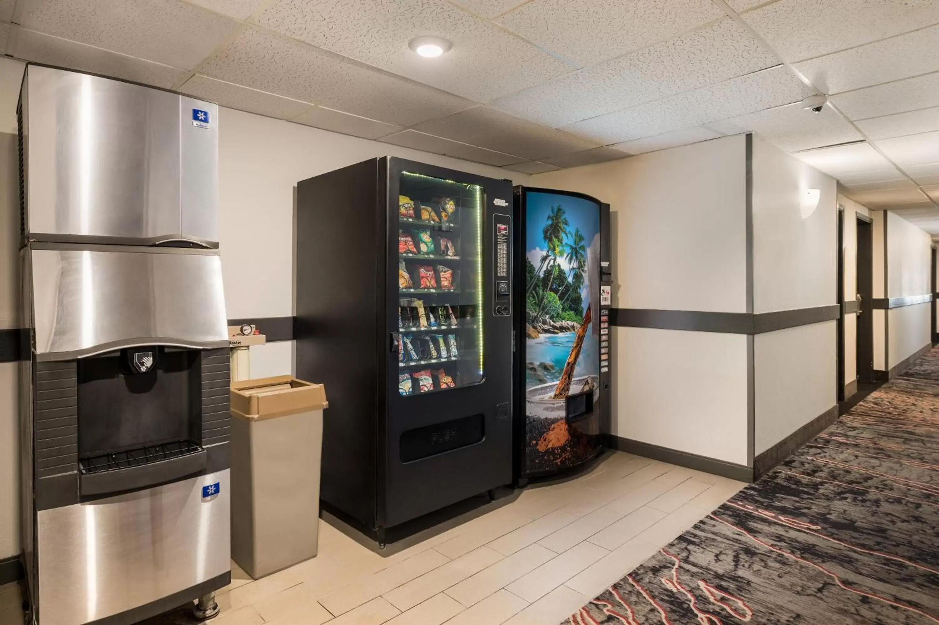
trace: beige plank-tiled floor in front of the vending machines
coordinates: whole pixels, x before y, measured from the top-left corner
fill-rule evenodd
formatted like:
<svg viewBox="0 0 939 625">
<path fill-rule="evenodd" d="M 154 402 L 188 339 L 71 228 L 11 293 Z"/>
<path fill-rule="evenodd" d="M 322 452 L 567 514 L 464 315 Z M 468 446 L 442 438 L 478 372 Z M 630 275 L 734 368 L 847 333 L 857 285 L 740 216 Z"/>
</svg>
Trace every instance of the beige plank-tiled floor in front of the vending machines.
<svg viewBox="0 0 939 625">
<path fill-rule="evenodd" d="M 257 581 L 235 567 L 212 623 L 553 625 L 743 486 L 613 452 L 393 555 L 320 521 L 316 558 Z M 10 588 L 0 586 L 0 625 L 20 622 L 4 608 L 19 597 Z"/>
</svg>

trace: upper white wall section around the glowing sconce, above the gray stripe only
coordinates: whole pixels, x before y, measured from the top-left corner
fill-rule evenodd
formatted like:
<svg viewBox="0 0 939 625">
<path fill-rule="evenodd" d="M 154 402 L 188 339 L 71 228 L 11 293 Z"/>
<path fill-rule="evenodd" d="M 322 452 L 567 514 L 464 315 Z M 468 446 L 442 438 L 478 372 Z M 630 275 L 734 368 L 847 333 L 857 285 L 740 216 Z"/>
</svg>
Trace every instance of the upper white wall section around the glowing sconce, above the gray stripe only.
<svg viewBox="0 0 939 625">
<path fill-rule="evenodd" d="M 808 189 L 820 191 L 812 211 Z M 753 312 L 835 304 L 837 196 L 835 179 L 753 137 Z"/>
</svg>

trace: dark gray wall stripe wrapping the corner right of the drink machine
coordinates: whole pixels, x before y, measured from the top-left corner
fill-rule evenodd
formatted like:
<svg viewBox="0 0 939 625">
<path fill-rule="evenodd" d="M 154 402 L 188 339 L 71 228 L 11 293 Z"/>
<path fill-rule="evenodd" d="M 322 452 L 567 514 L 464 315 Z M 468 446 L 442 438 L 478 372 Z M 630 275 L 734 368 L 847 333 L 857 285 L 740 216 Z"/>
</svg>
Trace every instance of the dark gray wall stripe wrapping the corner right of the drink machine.
<svg viewBox="0 0 939 625">
<path fill-rule="evenodd" d="M 837 304 L 758 314 L 612 308 L 609 311 L 609 323 L 623 328 L 760 335 L 810 323 L 836 320 L 839 312 L 840 307 Z"/>
</svg>

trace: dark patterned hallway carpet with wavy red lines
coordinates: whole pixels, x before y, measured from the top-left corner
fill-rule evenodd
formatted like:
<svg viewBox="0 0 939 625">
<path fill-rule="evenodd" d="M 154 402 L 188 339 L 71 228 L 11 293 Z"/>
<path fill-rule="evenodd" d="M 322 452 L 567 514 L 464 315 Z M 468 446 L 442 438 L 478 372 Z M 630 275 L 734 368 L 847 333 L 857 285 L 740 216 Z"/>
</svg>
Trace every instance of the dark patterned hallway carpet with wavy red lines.
<svg viewBox="0 0 939 625">
<path fill-rule="evenodd" d="M 939 348 L 564 625 L 939 623 Z"/>
</svg>

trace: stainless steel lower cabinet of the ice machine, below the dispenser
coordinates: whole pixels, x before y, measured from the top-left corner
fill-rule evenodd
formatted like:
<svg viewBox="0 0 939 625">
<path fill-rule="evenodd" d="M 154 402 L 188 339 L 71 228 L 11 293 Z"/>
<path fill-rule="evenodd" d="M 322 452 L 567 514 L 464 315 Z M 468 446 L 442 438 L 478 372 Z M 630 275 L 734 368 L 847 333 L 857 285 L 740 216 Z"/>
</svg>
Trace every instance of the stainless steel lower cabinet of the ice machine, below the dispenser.
<svg viewBox="0 0 939 625">
<path fill-rule="evenodd" d="M 217 494 L 203 497 L 202 487 L 213 484 Z M 229 492 L 225 469 L 39 510 L 39 621 L 81 625 L 226 575 Z"/>
</svg>

